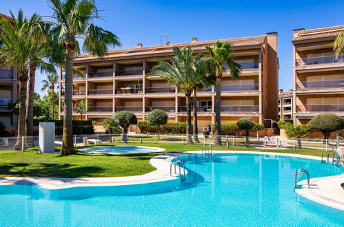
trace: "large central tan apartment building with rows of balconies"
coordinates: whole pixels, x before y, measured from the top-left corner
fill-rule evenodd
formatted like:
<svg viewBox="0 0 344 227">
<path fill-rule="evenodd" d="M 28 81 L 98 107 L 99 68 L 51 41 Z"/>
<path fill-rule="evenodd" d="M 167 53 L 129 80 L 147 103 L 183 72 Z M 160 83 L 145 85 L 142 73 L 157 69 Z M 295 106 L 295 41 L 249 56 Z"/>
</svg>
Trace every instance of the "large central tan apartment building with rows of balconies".
<svg viewBox="0 0 344 227">
<path fill-rule="evenodd" d="M 90 106 L 85 118 L 103 121 L 117 111 L 128 110 L 136 114 L 138 120 L 147 119 L 153 109 L 163 109 L 170 122 L 186 121 L 186 100 L 183 93 L 160 77 L 145 78 L 156 65 L 154 59 L 168 59 L 172 47 L 194 46 L 195 53 L 207 54 L 205 46 L 216 41 L 159 45 L 113 50 L 100 59 L 89 54 L 81 54 L 74 61 L 74 67 L 83 72 L 84 78 L 73 76 L 73 118 L 79 119 L 78 103 L 85 99 Z M 232 80 L 230 71 L 223 75 L 221 87 L 221 121 L 236 122 L 250 116 L 255 122 L 270 127 L 271 120 L 277 119 L 278 99 L 278 58 L 277 34 L 239 39 L 223 39 L 233 43 L 235 61 L 241 63 L 243 72 L 239 80 Z M 60 80 L 60 118 L 63 118 L 64 72 Z M 198 122 L 200 130 L 214 123 L 214 87 L 198 92 Z"/>
</svg>

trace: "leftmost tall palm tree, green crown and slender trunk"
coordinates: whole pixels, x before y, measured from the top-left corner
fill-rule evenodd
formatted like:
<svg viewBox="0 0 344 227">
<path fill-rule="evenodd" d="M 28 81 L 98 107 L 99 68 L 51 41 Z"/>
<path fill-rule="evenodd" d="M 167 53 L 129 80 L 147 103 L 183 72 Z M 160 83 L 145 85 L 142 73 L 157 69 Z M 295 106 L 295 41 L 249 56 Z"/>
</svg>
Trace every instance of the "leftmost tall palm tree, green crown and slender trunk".
<svg viewBox="0 0 344 227">
<path fill-rule="evenodd" d="M 1 65 L 15 65 L 17 67 L 18 80 L 20 85 L 19 94 L 19 116 L 17 142 L 14 149 L 21 149 L 21 137 L 25 135 L 25 116 L 26 116 L 26 91 L 28 85 L 30 40 L 26 36 L 26 26 L 28 19 L 23 16 L 23 11 L 19 10 L 17 18 L 10 12 L 14 19 L 10 23 L 7 19 L 0 16 L 0 48 Z M 32 16 L 34 17 L 34 16 Z"/>
</svg>

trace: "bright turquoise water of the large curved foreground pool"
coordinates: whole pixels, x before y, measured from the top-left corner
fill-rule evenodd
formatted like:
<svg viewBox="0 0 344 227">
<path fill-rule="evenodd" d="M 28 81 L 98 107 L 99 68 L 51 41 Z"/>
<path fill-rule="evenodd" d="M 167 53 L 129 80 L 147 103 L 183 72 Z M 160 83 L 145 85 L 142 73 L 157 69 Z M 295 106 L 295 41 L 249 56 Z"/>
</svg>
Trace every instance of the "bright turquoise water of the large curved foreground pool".
<svg viewBox="0 0 344 227">
<path fill-rule="evenodd" d="M 61 190 L 42 198 L 34 186 L 0 186 L 1 226 L 343 226 L 344 212 L 298 201 L 294 173 L 338 175 L 318 160 L 274 155 L 188 155 L 186 182 L 172 191 L 111 195 L 110 187 Z M 304 179 L 301 177 L 301 180 Z M 125 190 L 125 188 L 121 189 Z M 48 191 L 48 190 L 45 190 Z M 75 191 L 74 191 L 75 192 Z M 47 193 L 47 192 L 45 192 Z M 101 195 L 97 195 L 97 193 Z M 89 196 L 87 196 L 89 195 Z"/>
</svg>

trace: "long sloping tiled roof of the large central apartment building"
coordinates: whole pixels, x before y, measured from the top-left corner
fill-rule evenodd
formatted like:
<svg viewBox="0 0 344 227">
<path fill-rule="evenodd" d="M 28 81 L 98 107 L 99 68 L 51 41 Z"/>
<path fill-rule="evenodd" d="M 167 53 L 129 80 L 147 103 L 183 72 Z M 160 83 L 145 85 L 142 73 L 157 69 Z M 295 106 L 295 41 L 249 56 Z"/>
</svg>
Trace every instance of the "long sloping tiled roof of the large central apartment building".
<svg viewBox="0 0 344 227">
<path fill-rule="evenodd" d="M 207 45 L 214 45 L 216 41 L 221 41 L 222 43 L 232 43 L 234 47 L 245 47 L 245 46 L 252 46 L 252 45 L 261 45 L 265 40 L 266 35 L 263 36 L 251 36 L 251 37 L 244 37 L 244 38 L 236 38 L 236 39 L 219 39 L 214 41 L 199 41 L 195 43 L 179 43 L 179 44 L 170 44 L 170 45 L 158 45 L 158 46 L 151 46 L 151 47 L 138 47 L 138 48 L 131 48 L 131 49 L 122 49 L 122 50 L 110 50 L 108 52 L 108 56 L 105 58 L 112 58 L 112 57 L 120 57 L 120 56 L 135 56 L 135 55 L 143 55 L 143 54 L 165 54 L 166 52 L 172 52 L 172 47 L 187 47 L 187 46 L 194 46 L 194 50 L 204 50 L 204 47 Z M 94 58 L 94 56 L 86 53 L 81 54 L 75 60 L 83 60 L 85 58 Z"/>
</svg>

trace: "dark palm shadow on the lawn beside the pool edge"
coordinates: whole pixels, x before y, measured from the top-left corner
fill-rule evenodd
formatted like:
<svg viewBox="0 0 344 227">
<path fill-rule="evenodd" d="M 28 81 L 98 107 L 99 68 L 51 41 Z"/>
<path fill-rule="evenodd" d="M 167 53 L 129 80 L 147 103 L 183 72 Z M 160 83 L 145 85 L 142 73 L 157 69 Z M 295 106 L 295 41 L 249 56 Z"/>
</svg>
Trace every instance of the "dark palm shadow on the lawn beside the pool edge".
<svg viewBox="0 0 344 227">
<path fill-rule="evenodd" d="M 28 163 L 8 163 L 0 165 L 0 175 L 12 177 L 92 177 L 94 173 L 101 173 L 99 166 L 75 166 L 72 164 L 47 164 L 39 163 L 30 166 Z"/>
</svg>

